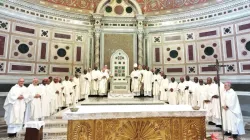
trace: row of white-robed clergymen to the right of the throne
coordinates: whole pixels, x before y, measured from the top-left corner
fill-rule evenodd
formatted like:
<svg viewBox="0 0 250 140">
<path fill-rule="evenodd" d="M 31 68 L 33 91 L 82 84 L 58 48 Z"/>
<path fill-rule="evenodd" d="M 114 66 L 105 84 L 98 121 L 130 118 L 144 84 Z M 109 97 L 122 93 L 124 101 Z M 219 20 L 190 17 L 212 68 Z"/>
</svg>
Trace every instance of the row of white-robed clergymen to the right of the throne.
<svg viewBox="0 0 250 140">
<path fill-rule="evenodd" d="M 213 80 L 207 77 L 204 84 L 202 79 L 194 77 L 194 81 L 191 81 L 189 76 L 185 79 L 181 77 L 180 82 L 177 83 L 174 77 L 169 81 L 167 75 L 161 73 L 159 69 L 150 71 L 146 66 L 138 68 L 137 64 L 134 64 L 134 71 L 130 76 L 134 95 L 139 96 L 143 90 L 144 96 L 152 96 L 153 93 L 155 99 L 171 105 L 198 106 L 207 111 L 208 124 L 223 127 L 225 135 L 237 138 L 238 135 L 245 134 L 239 100 L 236 92 L 231 88 L 231 83 L 220 82 L 219 89 L 217 77 Z M 221 96 L 219 96 L 219 90 Z M 221 110 L 223 119 L 221 119 Z"/>
</svg>

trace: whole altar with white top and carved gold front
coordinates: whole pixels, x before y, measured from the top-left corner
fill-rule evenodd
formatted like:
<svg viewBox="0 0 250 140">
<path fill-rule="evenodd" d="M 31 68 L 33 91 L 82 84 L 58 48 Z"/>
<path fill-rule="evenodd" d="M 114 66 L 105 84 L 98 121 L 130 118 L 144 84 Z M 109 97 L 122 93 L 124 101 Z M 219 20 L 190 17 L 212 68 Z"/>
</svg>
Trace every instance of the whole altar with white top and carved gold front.
<svg viewBox="0 0 250 140">
<path fill-rule="evenodd" d="M 68 140 L 203 140 L 205 110 L 185 105 L 78 106 L 66 111 Z"/>
</svg>

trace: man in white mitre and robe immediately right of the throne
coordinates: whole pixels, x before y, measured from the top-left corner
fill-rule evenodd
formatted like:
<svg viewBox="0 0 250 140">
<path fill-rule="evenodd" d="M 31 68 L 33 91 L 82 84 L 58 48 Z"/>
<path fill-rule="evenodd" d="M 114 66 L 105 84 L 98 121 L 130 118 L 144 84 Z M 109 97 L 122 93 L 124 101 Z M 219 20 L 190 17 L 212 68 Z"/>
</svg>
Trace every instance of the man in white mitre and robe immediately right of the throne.
<svg viewBox="0 0 250 140">
<path fill-rule="evenodd" d="M 141 83 L 141 73 L 137 68 L 137 64 L 134 64 L 134 70 L 131 72 L 130 77 L 132 79 L 131 90 L 134 96 L 140 96 L 140 83 Z"/>
</svg>

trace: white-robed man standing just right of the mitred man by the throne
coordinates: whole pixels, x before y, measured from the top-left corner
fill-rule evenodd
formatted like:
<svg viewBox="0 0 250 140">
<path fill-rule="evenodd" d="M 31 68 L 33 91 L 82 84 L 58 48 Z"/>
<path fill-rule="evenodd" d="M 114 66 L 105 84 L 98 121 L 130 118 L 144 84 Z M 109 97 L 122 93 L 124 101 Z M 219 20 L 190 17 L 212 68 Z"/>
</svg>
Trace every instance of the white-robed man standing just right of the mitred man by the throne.
<svg viewBox="0 0 250 140">
<path fill-rule="evenodd" d="M 144 88 L 144 96 L 152 96 L 152 81 L 153 80 L 153 73 L 147 67 L 147 71 L 143 73 L 143 88 Z"/>
</svg>

